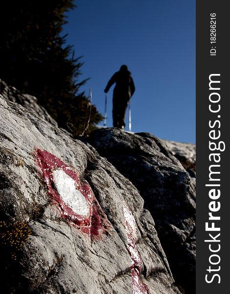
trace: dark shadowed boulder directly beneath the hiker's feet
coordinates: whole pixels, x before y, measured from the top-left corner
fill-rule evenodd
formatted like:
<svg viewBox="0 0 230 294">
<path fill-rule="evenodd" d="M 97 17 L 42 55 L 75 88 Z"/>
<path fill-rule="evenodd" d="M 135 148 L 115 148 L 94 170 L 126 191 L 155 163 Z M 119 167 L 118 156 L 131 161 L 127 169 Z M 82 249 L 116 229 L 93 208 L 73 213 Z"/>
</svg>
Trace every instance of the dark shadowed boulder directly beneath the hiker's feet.
<svg viewBox="0 0 230 294">
<path fill-rule="evenodd" d="M 195 185 L 182 164 L 149 133 L 102 128 L 89 143 L 138 189 L 176 283 L 195 293 Z"/>
</svg>

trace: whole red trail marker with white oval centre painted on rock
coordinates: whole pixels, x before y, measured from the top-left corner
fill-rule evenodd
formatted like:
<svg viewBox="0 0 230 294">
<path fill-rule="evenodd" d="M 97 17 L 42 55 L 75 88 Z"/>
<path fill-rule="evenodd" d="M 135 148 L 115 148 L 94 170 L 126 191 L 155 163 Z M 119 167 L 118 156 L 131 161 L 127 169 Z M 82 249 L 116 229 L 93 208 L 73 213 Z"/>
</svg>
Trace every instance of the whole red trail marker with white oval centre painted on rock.
<svg viewBox="0 0 230 294">
<path fill-rule="evenodd" d="M 89 236 L 101 235 L 107 223 L 88 182 L 81 181 L 78 172 L 46 150 L 37 149 L 35 156 L 48 195 L 58 204 L 63 218 Z"/>
</svg>

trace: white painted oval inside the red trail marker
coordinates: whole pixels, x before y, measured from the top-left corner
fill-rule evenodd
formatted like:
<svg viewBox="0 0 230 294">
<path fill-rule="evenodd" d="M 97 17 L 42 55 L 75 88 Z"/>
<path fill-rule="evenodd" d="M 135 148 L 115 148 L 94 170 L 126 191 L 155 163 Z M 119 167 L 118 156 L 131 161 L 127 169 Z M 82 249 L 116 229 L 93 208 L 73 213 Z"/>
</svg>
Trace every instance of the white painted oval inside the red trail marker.
<svg viewBox="0 0 230 294">
<path fill-rule="evenodd" d="M 77 214 L 87 217 L 90 209 L 86 198 L 77 190 L 75 181 L 64 171 L 55 170 L 53 180 L 62 200 Z"/>
</svg>

